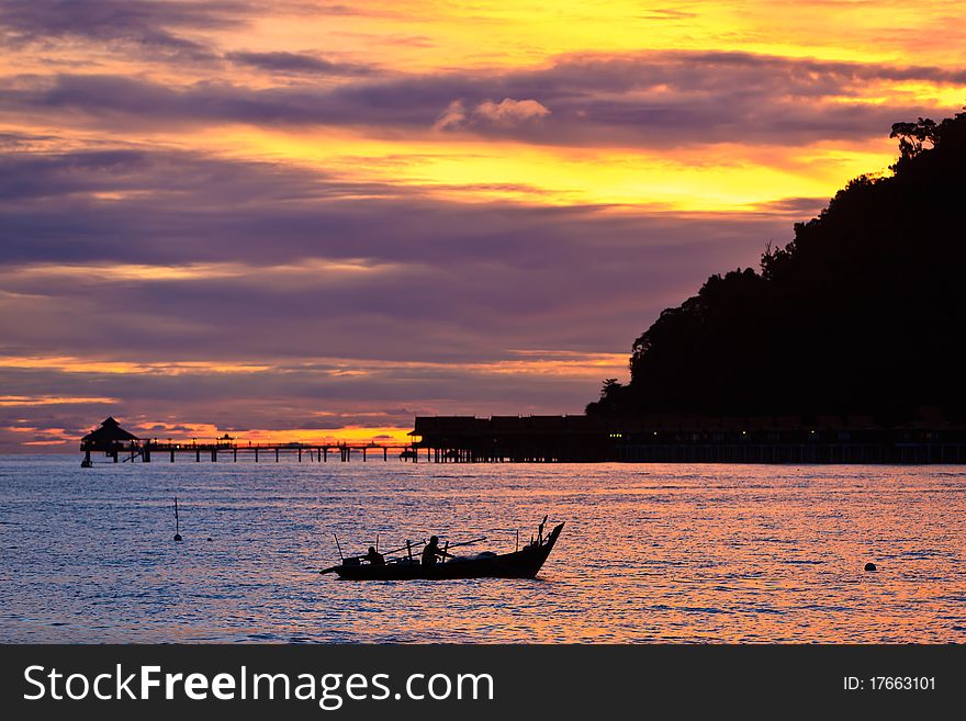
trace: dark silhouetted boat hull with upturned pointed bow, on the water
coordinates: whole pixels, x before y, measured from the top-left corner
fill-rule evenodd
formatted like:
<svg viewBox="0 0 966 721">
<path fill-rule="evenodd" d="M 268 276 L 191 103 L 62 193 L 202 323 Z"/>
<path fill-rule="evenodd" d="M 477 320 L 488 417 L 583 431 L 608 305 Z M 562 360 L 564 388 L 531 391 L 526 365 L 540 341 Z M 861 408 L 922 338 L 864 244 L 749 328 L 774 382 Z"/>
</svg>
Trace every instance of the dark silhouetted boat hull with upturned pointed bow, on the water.
<svg viewBox="0 0 966 721">
<path fill-rule="evenodd" d="M 542 523 L 541 530 L 542 530 Z M 443 563 L 424 566 L 419 559 L 404 556 L 390 559 L 384 564 L 362 563 L 359 557 L 345 559 L 340 565 L 321 573 L 337 573 L 348 581 L 446 581 L 452 578 L 533 578 L 553 550 L 563 530 L 558 523 L 543 537 L 512 553 L 484 552 L 473 556 L 457 556 Z"/>
</svg>

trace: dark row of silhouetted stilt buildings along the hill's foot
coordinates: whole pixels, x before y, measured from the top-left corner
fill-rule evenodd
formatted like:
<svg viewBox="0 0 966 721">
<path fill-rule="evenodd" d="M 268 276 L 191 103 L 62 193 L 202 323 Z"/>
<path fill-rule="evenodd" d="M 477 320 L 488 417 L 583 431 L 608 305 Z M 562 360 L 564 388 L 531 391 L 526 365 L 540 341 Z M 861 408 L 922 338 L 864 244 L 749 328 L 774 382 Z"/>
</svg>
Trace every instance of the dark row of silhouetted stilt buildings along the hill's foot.
<svg viewBox="0 0 966 721">
<path fill-rule="evenodd" d="M 786 464 L 966 463 L 966 428 L 896 428 L 818 418 L 417 416 L 417 449 L 434 462 Z"/>
</svg>

